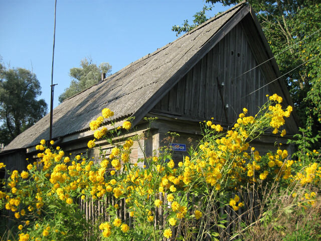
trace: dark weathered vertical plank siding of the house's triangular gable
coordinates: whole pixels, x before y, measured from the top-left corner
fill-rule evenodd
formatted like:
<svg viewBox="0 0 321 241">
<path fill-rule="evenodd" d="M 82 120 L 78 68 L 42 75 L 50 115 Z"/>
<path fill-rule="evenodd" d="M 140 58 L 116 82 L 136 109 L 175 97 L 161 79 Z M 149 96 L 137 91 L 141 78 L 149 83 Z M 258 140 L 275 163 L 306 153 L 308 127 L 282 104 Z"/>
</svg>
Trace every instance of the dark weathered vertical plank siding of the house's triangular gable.
<svg viewBox="0 0 321 241">
<path fill-rule="evenodd" d="M 231 125 L 243 107 L 249 109 L 249 114 L 255 114 L 266 102 L 265 95 L 272 93 L 266 86 L 250 94 L 267 83 L 261 68 L 255 68 L 257 65 L 244 29 L 238 24 L 151 111 L 197 119 L 214 117 L 224 123 L 224 108 L 229 104 L 226 111 Z M 243 74 L 252 68 L 255 69 Z"/>
</svg>

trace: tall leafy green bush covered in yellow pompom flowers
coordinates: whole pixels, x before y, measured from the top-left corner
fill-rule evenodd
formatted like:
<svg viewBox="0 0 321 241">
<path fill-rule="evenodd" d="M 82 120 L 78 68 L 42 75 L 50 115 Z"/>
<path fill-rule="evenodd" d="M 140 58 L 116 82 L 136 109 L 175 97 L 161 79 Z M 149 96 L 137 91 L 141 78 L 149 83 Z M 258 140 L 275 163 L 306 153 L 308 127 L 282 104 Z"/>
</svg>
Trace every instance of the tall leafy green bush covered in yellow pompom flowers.
<svg viewBox="0 0 321 241">
<path fill-rule="evenodd" d="M 212 121 L 205 122 L 202 124 L 203 139 L 190 150 L 190 156 L 179 163 L 172 160 L 169 147 L 164 147 L 157 156 L 132 163 L 131 147 L 144 137 L 121 139 L 123 132 L 131 128 L 131 119 L 109 131 L 101 128 L 104 120 L 113 115 L 106 108 L 102 116 L 90 123 L 95 139 L 88 142 L 88 147 L 95 147 L 96 139 L 103 138 L 114 147 L 109 156 L 101 151 L 97 164 L 86 154 L 66 156 L 59 147 L 54 148 L 53 141 L 46 146 L 45 140 L 41 140 L 36 147 L 40 151 L 39 161 L 28 165 L 28 171 L 10 173 L 8 180 L 4 180 L 6 189 L 0 192 L 0 208 L 9 210 L 9 218 L 15 223 L 11 228 L 12 239 L 230 238 L 228 229 L 233 229 L 231 223 L 235 224 L 241 215 L 238 211 L 244 206 L 242 196 L 237 193 L 248 191 L 247 188 L 259 192 L 257 187 L 263 190 L 260 194 L 263 193 L 265 200 L 262 202 L 265 205 L 260 206 L 262 217 L 259 218 L 269 225 L 274 213 L 268 214 L 273 210 L 273 206 L 269 206 L 273 201 L 266 200 L 273 196 L 264 195 L 267 190 L 281 188 L 293 192 L 297 186 L 315 186 L 320 179 L 317 163 L 310 162 L 299 171 L 296 163 L 288 159 L 286 150 L 278 149 L 276 153 L 261 157 L 251 147 L 251 141 L 271 128 L 274 134 L 285 135 L 285 130 L 280 128 L 292 108 L 282 109 L 281 101 L 276 94 L 269 96 L 255 116 L 247 116 L 244 108 L 232 130 L 227 132 Z M 113 143 L 113 140 L 118 142 Z M 111 196 L 114 201 L 107 201 Z M 309 193 L 304 202 L 290 205 L 314 207 L 317 198 L 316 193 Z M 79 208 L 79 200 L 103 206 L 104 211 L 90 220 Z M 266 206 L 269 207 L 267 212 Z M 130 218 L 119 215 L 120 208 L 125 208 Z M 222 208 L 229 208 L 230 217 L 218 212 Z M 266 214 L 263 215 L 263 211 Z M 162 215 L 163 219 L 157 215 Z M 233 225 L 232 237 L 246 237 L 255 230 L 254 224 L 239 231 L 237 225 Z"/>
</svg>

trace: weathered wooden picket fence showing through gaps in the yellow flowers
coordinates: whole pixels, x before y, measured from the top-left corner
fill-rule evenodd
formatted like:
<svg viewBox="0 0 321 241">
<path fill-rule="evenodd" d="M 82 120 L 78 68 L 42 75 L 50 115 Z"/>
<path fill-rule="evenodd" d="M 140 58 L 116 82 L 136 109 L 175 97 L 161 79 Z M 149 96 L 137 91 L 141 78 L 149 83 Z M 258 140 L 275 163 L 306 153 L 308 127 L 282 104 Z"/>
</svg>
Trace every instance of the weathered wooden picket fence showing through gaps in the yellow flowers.
<svg viewBox="0 0 321 241">
<path fill-rule="evenodd" d="M 226 203 L 215 202 L 213 205 L 208 206 L 208 213 L 210 215 L 206 215 L 207 218 L 204 219 L 204 222 L 201 223 L 201 219 L 196 220 L 192 223 L 193 226 L 196 227 L 197 230 L 202 227 L 205 230 L 202 240 L 212 240 L 212 237 L 209 233 L 216 232 L 218 233 L 217 238 L 219 240 L 231 240 L 231 236 L 235 233 L 235 230 L 241 227 L 241 223 L 250 224 L 254 222 L 260 213 L 260 198 L 255 192 L 244 192 L 244 193 L 231 193 L 229 196 L 225 196 L 225 200 L 229 200 L 229 198 L 233 198 L 237 194 L 240 197 L 240 201 L 244 202 L 244 206 L 239 208 L 239 210 L 234 211 L 233 208 Z M 165 206 L 170 209 L 171 203 L 167 201 L 167 194 L 158 194 L 158 198 L 163 201 Z M 194 212 L 197 206 L 200 206 L 201 199 L 204 196 L 195 196 L 188 194 L 187 200 L 190 200 L 188 203 L 190 208 L 190 212 Z M 117 209 L 117 216 L 121 218 L 122 222 L 127 223 L 130 228 L 134 228 L 135 220 L 133 217 L 130 217 L 129 211 L 126 209 L 125 200 L 117 199 L 109 195 L 106 197 L 105 201 L 98 200 L 78 200 L 78 204 L 80 209 L 84 212 L 87 220 L 96 221 L 111 221 L 111 217 L 106 211 L 109 204 L 119 205 Z M 228 203 L 228 201 L 227 201 Z M 158 229 L 164 229 L 165 223 L 167 220 L 167 211 L 164 208 L 159 207 L 154 210 L 155 218 L 154 218 L 154 226 Z M 219 218 L 220 216 L 220 218 Z M 222 218 L 223 217 L 223 218 Z M 179 224 L 179 223 L 178 223 Z M 164 240 L 176 240 L 178 234 L 183 236 L 186 226 L 184 226 L 183 221 L 177 225 L 175 228 L 172 228 L 172 238 L 164 239 Z M 197 235 L 197 234 L 195 234 Z"/>
</svg>

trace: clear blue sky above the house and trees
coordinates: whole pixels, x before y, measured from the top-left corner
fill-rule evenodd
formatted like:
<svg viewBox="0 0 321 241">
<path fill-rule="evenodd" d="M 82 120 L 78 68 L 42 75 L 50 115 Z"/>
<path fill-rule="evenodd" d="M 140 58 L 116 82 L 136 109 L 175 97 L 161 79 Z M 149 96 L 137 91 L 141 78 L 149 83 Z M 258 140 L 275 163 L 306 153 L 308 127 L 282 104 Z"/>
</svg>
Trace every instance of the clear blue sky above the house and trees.
<svg viewBox="0 0 321 241">
<path fill-rule="evenodd" d="M 57 0 L 55 98 L 69 86 L 69 69 L 91 57 L 112 73 L 173 42 L 173 25 L 202 10 L 202 0 Z M 50 103 L 54 0 L 0 0 L 0 55 L 6 67 L 32 69 Z M 227 10 L 216 5 L 212 12 Z"/>
</svg>

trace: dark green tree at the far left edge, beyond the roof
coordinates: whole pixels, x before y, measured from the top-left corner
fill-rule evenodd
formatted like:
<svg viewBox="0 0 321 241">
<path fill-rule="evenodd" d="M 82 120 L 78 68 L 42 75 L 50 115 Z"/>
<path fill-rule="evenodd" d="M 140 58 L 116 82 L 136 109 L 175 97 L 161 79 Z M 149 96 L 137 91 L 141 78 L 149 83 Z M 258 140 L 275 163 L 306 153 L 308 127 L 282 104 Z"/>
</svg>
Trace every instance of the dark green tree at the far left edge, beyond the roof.
<svg viewBox="0 0 321 241">
<path fill-rule="evenodd" d="M 0 143 L 9 144 L 47 113 L 36 75 L 23 68 L 6 69 L 0 74 Z"/>
</svg>

